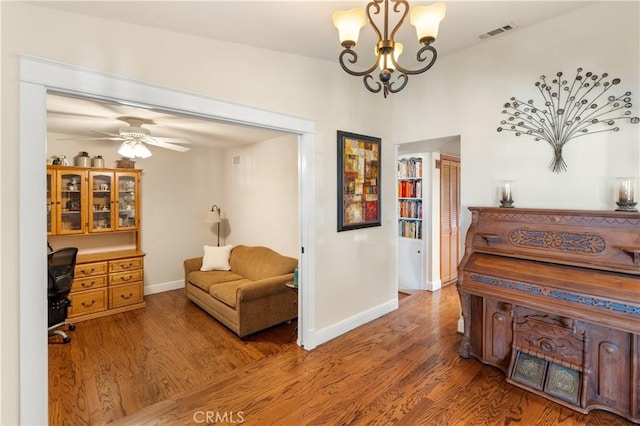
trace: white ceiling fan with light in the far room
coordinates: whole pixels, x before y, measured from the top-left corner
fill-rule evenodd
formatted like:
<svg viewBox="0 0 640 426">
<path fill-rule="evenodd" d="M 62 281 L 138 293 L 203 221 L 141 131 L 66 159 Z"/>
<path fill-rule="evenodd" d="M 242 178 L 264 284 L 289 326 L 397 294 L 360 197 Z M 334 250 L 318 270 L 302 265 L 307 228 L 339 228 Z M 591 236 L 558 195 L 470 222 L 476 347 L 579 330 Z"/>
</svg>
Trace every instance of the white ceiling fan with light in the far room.
<svg viewBox="0 0 640 426">
<path fill-rule="evenodd" d="M 120 127 L 118 133 L 101 132 L 92 130 L 92 133 L 103 135 L 102 137 L 89 138 L 63 138 L 58 140 L 114 140 L 122 141 L 118 153 L 127 158 L 147 158 L 151 156 L 151 151 L 145 144 L 166 148 L 172 151 L 187 152 L 191 148 L 179 144 L 191 144 L 191 141 L 184 138 L 165 138 L 151 136 L 149 129 L 142 127 L 143 124 L 154 124 L 153 120 L 138 117 L 118 117 L 118 120 L 127 123 L 127 126 Z"/>
</svg>

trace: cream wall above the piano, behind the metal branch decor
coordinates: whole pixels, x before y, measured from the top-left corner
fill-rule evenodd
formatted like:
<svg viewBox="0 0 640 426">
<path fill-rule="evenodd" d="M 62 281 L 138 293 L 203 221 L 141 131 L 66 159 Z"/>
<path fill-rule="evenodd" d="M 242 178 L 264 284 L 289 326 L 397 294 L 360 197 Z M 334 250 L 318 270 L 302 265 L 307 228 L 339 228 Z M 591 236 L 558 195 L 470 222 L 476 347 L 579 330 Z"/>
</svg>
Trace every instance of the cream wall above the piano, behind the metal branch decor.
<svg viewBox="0 0 640 426">
<path fill-rule="evenodd" d="M 626 122 L 619 132 L 570 141 L 564 150 L 568 170 L 561 174 L 549 171 L 552 150 L 545 142 L 496 129 L 512 96 L 537 102 L 540 75 L 562 71 L 572 81 L 579 67 L 619 77 L 612 93 L 631 91 L 638 116 L 639 7 L 597 3 L 439 58 L 429 75 L 415 79 L 420 84 L 395 98 L 396 140 L 461 135 L 461 237 L 468 206 L 498 206 L 501 179 L 515 181 L 516 207 L 615 208 L 613 178 L 640 175 L 640 126 Z"/>
</svg>

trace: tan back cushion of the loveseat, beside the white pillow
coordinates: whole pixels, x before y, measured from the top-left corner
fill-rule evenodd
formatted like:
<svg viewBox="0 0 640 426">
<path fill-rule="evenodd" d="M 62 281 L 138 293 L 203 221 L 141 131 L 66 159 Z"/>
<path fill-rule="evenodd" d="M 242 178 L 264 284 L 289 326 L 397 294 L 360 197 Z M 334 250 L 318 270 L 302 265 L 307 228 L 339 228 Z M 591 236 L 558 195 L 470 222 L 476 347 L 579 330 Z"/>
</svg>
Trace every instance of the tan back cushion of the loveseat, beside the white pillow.
<svg viewBox="0 0 640 426">
<path fill-rule="evenodd" d="M 292 273 L 298 260 L 283 256 L 268 247 L 235 246 L 229 259 L 231 270 L 250 280 Z"/>
</svg>

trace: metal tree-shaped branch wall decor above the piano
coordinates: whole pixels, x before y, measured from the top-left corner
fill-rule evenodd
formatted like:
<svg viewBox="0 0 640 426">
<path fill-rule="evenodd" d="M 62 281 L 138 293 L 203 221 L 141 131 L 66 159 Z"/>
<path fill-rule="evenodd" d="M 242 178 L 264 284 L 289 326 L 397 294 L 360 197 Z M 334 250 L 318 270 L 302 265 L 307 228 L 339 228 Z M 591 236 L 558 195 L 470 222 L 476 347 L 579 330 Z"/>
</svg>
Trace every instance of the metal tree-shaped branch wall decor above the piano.
<svg viewBox="0 0 640 426">
<path fill-rule="evenodd" d="M 587 72 L 583 75 L 582 68 L 578 68 L 571 84 L 562 79 L 562 72 L 558 72 L 551 83 L 547 83 L 544 75 L 541 76 L 541 81 L 537 81 L 535 86 L 542 95 L 544 106 L 534 105 L 532 99 L 523 102 L 511 98 L 504 104 L 506 109 L 502 113 L 508 118 L 500 122 L 502 127 L 498 127 L 498 132 L 515 132 L 516 136 L 528 135 L 536 141 L 546 141 L 554 153 L 549 168 L 554 173 L 566 171 L 562 148 L 571 139 L 600 132 L 617 132 L 620 130 L 617 121 L 640 122 L 638 117 L 631 117 L 631 92 L 605 96 L 620 84 L 619 78 L 604 81 L 607 77 L 607 73 L 597 76 Z"/>
</svg>

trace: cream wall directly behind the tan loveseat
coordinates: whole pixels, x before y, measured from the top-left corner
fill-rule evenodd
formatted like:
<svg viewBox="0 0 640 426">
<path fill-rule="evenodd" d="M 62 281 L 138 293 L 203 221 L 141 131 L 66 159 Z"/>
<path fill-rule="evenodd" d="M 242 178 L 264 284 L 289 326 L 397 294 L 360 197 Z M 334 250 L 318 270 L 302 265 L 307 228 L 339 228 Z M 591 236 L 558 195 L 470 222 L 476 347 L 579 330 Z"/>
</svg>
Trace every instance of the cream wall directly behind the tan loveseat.
<svg viewBox="0 0 640 426">
<path fill-rule="evenodd" d="M 228 149 L 223 170 L 225 193 L 219 205 L 224 242 L 264 245 L 298 258 L 298 137 Z"/>
</svg>

